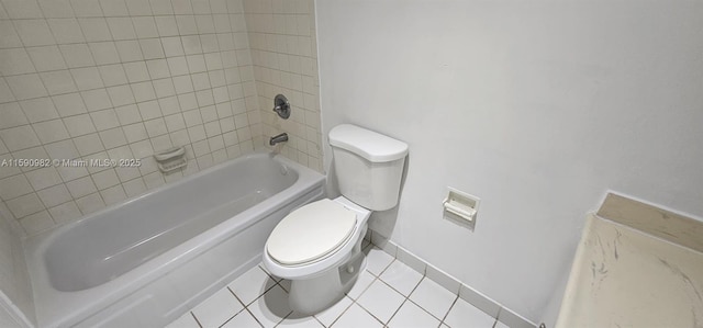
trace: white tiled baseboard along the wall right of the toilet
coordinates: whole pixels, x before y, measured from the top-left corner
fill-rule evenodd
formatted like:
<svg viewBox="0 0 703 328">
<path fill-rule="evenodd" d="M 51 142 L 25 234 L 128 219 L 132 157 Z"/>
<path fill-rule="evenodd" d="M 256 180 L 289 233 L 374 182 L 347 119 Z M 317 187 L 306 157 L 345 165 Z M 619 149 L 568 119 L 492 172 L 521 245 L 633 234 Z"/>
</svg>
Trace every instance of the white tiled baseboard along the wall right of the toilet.
<svg viewBox="0 0 703 328">
<path fill-rule="evenodd" d="M 501 305 L 500 303 L 491 299 L 481 292 L 472 289 L 471 286 L 460 282 L 458 279 L 450 274 L 439 270 L 438 268 L 429 264 L 422 258 L 413 255 L 409 250 L 399 246 L 392 240 L 389 240 L 384 236 L 368 230 L 366 239 L 370 240 L 376 247 L 382 249 L 393 258 L 403 262 L 413 270 L 424 274 L 429 280 L 436 282 L 440 286 L 447 289 L 449 292 L 459 295 L 459 298 L 476 306 L 478 309 L 484 312 L 491 317 L 498 318 L 499 321 L 507 325 L 511 328 L 534 328 L 537 325 L 516 314 L 510 308 Z"/>
</svg>

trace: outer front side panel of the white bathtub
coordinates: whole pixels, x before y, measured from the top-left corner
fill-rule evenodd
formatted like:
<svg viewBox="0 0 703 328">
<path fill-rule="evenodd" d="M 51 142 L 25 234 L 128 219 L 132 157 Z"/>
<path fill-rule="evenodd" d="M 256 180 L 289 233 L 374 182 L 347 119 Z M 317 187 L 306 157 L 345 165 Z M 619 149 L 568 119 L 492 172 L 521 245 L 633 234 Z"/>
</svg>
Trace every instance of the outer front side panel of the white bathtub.
<svg viewBox="0 0 703 328">
<path fill-rule="evenodd" d="M 301 196 L 75 327 L 166 326 L 258 264 L 276 225 L 292 210 L 322 196 L 322 189 Z"/>
</svg>

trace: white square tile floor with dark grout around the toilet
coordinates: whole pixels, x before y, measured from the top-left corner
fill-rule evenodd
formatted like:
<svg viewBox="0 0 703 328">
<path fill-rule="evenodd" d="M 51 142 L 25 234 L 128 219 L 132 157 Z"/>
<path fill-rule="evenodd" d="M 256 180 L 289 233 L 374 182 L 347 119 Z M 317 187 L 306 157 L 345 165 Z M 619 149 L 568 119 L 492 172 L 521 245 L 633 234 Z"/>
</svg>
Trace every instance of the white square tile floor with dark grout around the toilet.
<svg viewBox="0 0 703 328">
<path fill-rule="evenodd" d="M 507 328 L 372 245 L 365 251 L 367 269 L 352 291 L 317 315 L 301 316 L 290 310 L 290 281 L 270 276 L 257 265 L 167 328 Z"/>
</svg>

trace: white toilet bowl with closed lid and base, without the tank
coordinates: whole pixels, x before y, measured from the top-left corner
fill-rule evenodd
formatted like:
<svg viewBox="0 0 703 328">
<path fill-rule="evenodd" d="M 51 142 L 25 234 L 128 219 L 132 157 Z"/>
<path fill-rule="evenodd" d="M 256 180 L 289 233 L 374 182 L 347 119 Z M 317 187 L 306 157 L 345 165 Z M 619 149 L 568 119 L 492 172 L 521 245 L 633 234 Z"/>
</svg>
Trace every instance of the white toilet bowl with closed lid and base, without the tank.
<svg viewBox="0 0 703 328">
<path fill-rule="evenodd" d="M 330 222 L 335 218 L 350 222 L 336 227 L 321 226 L 315 219 L 304 219 L 301 214 L 309 211 L 316 211 L 317 217 L 324 216 Z M 264 265 L 271 274 L 291 280 L 291 309 L 301 314 L 319 313 L 352 289 L 358 276 L 355 273 L 365 265 L 361 242 L 370 215 L 371 211 L 347 199 L 324 199 L 293 211 L 274 229 L 264 251 Z M 320 242 L 315 245 L 315 241 Z"/>
</svg>

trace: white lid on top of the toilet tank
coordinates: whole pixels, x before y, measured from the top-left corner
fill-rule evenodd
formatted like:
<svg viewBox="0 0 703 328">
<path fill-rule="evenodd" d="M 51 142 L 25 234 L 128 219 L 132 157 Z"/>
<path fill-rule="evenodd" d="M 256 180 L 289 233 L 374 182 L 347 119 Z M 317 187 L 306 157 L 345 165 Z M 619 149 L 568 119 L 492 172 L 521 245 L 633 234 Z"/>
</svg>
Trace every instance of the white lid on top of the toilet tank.
<svg viewBox="0 0 703 328">
<path fill-rule="evenodd" d="M 408 155 L 408 144 L 352 124 L 330 131 L 330 145 L 349 150 L 370 162 L 387 162 Z"/>
</svg>

